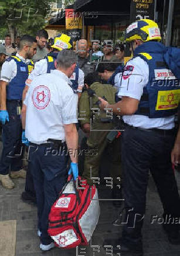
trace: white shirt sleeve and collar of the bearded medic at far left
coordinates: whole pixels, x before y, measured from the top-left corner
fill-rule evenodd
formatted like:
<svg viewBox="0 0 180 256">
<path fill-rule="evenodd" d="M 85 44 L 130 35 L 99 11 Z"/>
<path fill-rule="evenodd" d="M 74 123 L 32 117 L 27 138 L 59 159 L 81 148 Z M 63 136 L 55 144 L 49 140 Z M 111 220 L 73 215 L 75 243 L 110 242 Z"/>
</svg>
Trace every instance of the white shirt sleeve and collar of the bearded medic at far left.
<svg viewBox="0 0 180 256">
<path fill-rule="evenodd" d="M 24 59 L 19 53 L 16 53 L 16 57 L 21 59 L 24 63 L 29 63 L 30 59 Z M 1 70 L 1 80 L 4 82 L 11 82 L 13 78 L 17 75 L 17 64 L 14 59 L 10 61 L 5 61 L 2 65 Z"/>
</svg>

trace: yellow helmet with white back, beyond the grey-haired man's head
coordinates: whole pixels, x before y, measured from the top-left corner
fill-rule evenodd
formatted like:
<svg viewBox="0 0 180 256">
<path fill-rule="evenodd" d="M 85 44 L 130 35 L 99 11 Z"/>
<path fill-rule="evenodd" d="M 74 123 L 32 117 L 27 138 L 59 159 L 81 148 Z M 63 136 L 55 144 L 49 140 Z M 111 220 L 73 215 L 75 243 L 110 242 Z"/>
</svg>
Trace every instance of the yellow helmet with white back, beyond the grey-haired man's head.
<svg viewBox="0 0 180 256">
<path fill-rule="evenodd" d="M 70 49 L 72 48 L 70 39 L 70 36 L 62 33 L 62 35 L 56 36 L 54 38 L 54 44 L 51 47 L 57 50 Z"/>
</svg>

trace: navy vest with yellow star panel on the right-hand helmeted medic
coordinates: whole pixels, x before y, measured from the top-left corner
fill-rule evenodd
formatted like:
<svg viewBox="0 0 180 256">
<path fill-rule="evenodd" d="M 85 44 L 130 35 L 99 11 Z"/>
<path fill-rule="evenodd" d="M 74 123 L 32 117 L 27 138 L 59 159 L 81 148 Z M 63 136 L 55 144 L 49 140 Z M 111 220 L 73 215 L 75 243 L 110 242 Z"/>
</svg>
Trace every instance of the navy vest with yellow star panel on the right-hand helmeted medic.
<svg viewBox="0 0 180 256">
<path fill-rule="evenodd" d="M 147 62 L 149 67 L 149 80 L 143 89 L 135 114 L 160 118 L 172 116 L 177 112 L 180 101 L 180 83 L 173 70 L 169 68 L 169 63 L 165 62 L 166 52 L 167 48 L 158 42 L 146 42 L 135 49 L 134 58 L 140 57 Z M 133 69 L 133 66 L 127 66 L 124 75 L 125 72 L 127 74 L 132 72 L 131 68 Z"/>
</svg>

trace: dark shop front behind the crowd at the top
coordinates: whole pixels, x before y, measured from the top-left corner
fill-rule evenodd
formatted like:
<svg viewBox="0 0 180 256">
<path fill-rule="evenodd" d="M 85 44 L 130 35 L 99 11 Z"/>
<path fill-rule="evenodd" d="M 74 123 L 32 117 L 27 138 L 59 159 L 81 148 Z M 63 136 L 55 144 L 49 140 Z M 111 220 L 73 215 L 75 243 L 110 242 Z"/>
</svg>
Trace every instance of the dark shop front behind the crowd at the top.
<svg viewBox="0 0 180 256">
<path fill-rule="evenodd" d="M 77 0 L 69 6 L 76 13 L 83 16 L 83 29 L 81 37 L 87 39 L 90 45 L 91 39 L 100 42 L 104 40 L 124 41 L 125 29 L 132 22 L 132 14 L 136 11 L 135 18 L 151 18 L 158 22 L 162 32 L 162 42 L 166 42 L 168 31 L 168 14 L 172 2 L 174 2 L 172 15 L 171 45 L 180 47 L 180 1 L 179 0 L 146 0 L 140 4 L 140 0 Z M 155 5 L 156 4 L 156 5 Z M 132 9 L 136 6 L 136 10 Z M 148 6 L 148 8 L 147 8 Z M 68 7 L 68 8 L 69 8 Z M 134 7 L 133 7 L 134 8 Z M 51 19 L 47 29 L 55 33 L 67 32 L 64 11 Z"/>
</svg>

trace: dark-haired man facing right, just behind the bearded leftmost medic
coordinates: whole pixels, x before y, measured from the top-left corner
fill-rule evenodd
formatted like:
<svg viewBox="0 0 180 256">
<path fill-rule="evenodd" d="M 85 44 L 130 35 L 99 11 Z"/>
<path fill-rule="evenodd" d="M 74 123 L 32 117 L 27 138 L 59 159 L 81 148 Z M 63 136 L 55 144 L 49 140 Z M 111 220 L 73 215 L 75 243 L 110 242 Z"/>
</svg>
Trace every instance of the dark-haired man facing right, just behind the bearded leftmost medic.
<svg viewBox="0 0 180 256">
<path fill-rule="evenodd" d="M 36 40 L 37 40 L 37 52 L 33 56 L 33 62 L 36 62 L 40 59 L 44 59 L 47 56 L 47 49 L 46 43 L 48 39 L 48 33 L 45 29 L 40 29 L 36 33 Z"/>
</svg>

